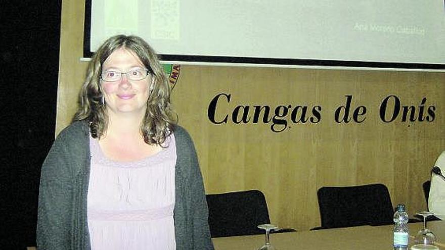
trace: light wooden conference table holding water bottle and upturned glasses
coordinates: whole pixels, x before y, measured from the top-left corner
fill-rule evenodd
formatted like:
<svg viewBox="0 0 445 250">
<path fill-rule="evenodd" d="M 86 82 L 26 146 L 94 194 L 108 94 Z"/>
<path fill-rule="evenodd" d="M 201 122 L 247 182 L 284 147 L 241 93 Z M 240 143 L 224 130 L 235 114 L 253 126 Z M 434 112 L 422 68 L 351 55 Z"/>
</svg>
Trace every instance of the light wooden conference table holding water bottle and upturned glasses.
<svg viewBox="0 0 445 250">
<path fill-rule="evenodd" d="M 414 235 L 423 227 L 422 222 L 409 223 L 409 246 L 414 244 Z M 445 249 L 445 221 L 430 221 L 427 224 L 437 237 L 436 245 Z M 297 231 L 271 234 L 271 243 L 277 250 L 384 250 L 392 249 L 392 225 L 358 226 L 313 231 Z M 264 244 L 264 235 L 248 235 L 212 238 L 216 250 L 256 250 Z"/>
</svg>

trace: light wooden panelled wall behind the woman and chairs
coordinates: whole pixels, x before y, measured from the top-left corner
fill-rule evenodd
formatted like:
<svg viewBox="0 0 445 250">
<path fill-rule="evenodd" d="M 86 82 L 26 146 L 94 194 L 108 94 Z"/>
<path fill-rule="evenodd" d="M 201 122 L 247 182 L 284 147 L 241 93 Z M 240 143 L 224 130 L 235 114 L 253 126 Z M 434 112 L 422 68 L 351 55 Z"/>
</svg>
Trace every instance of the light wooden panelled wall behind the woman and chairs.
<svg viewBox="0 0 445 250">
<path fill-rule="evenodd" d="M 56 133 L 70 123 L 86 68 L 80 61 L 83 16 L 82 1 L 63 1 Z M 405 203 L 410 214 L 426 209 L 422 182 L 445 150 L 444 82 L 445 73 L 439 72 L 182 65 L 172 102 L 180 125 L 195 140 L 208 193 L 260 189 L 273 223 L 307 230 L 320 225 L 316 193 L 325 185 L 381 182 L 393 205 Z M 215 120 L 226 115 L 228 120 L 214 124 L 208 109 L 221 93 L 226 95 L 218 99 Z M 335 121 L 346 96 L 351 96 L 350 115 L 359 106 L 359 113 L 366 109 L 358 116 L 364 121 Z M 382 121 L 379 111 L 388 96 L 386 119 L 398 99 L 400 109 L 414 107 L 416 121 L 402 121 L 402 112 L 392 122 Z M 289 105 L 287 116 L 276 117 L 287 121 L 286 129 L 273 132 L 275 110 Z M 237 119 L 249 106 L 248 122 L 232 121 L 237 106 L 242 106 Z M 253 122 L 254 106 L 270 107 L 269 122 L 263 122 L 263 113 Z M 315 121 L 294 123 L 296 106 L 306 106 Z M 312 114 L 316 106 L 320 119 Z M 419 121 L 432 119 L 428 109 L 433 121 Z"/>
</svg>

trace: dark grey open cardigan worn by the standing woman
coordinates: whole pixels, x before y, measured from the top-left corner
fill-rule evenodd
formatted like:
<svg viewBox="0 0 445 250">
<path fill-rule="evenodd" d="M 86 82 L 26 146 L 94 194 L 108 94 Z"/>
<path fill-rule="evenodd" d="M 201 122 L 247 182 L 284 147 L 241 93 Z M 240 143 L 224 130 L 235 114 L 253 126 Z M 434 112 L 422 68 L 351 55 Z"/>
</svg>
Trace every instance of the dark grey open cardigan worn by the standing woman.
<svg viewBox="0 0 445 250">
<path fill-rule="evenodd" d="M 38 249 L 91 249 L 86 218 L 91 159 L 88 131 L 86 122 L 74 122 L 65 128 L 43 162 L 36 232 Z M 195 146 L 180 126 L 174 127 L 174 137 L 176 248 L 213 249 Z"/>
</svg>

